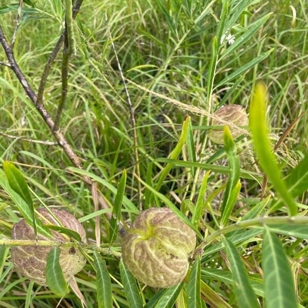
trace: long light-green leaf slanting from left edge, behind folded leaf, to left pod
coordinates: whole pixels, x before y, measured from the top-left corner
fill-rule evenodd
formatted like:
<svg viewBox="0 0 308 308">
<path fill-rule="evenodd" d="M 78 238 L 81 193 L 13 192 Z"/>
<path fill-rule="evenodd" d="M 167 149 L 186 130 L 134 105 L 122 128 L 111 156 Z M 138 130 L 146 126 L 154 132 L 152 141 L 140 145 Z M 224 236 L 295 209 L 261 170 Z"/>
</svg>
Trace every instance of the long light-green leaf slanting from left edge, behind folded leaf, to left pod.
<svg viewBox="0 0 308 308">
<path fill-rule="evenodd" d="M 2 169 L 0 169 L 0 186 L 3 187 L 5 192 L 10 196 L 10 198 L 16 204 L 18 210 L 21 212 L 26 222 L 30 226 L 32 226 L 33 220 L 32 220 L 32 215 L 31 215 L 29 206 L 24 201 L 24 199 L 10 187 L 9 182 Z M 52 234 L 50 233 L 50 230 L 45 225 L 43 225 L 41 220 L 36 219 L 36 227 L 37 227 L 38 233 L 44 236 L 47 236 L 49 238 L 52 238 Z"/>
</svg>

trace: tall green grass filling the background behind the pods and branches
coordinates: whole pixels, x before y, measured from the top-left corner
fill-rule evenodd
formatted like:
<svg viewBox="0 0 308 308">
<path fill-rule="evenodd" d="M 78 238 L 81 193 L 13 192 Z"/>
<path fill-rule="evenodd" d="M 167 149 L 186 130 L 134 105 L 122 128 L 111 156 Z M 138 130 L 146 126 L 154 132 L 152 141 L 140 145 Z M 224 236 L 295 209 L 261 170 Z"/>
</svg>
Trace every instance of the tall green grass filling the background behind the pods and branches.
<svg viewBox="0 0 308 308">
<path fill-rule="evenodd" d="M 98 183 L 112 208 L 119 179 L 126 169 L 127 199 L 123 202 L 121 220 L 129 222 L 139 208 L 154 203 L 163 206 L 163 200 L 157 194 L 151 195 L 144 182 L 159 190 L 190 218 L 189 210 L 197 202 L 205 171 L 214 168 L 215 172 L 207 180 L 202 203 L 204 220 L 200 220 L 199 230 L 206 226 L 212 233 L 218 228 L 216 222 L 219 224 L 221 219 L 223 199 L 220 191 L 227 182 L 229 164 L 223 146 L 211 143 L 207 138 L 211 124 L 208 113 L 227 104 L 248 107 L 256 82 L 262 81 L 268 89 L 268 123 L 275 144 L 308 104 L 307 2 L 230 0 L 229 13 L 222 25 L 225 3 L 214 0 L 83 2 L 74 22 L 76 54 L 69 65 L 68 97 L 60 127 L 82 159 L 84 171 L 74 168 L 63 149 L 54 144 L 51 131 L 10 67 L 0 65 L 0 157 L 2 161 L 13 161 L 23 171 L 36 207 L 46 204 L 69 210 L 83 222 L 92 243 L 95 243 L 95 225 L 98 224 L 95 217 L 100 217 L 101 246 L 108 247 L 110 224 L 103 214 L 108 210 L 94 209 L 91 191 L 86 189 L 82 175 Z M 8 39 L 14 32 L 17 8 L 16 1 L 0 0 L 0 24 Z M 14 55 L 35 92 L 48 56 L 64 29 L 64 20 L 65 6 L 59 0 L 24 1 Z M 229 36 L 227 42 L 223 37 L 229 33 L 234 37 Z M 218 37 L 217 54 L 213 44 L 215 36 Z M 233 50 L 226 53 L 232 46 Z M 0 61 L 7 62 L 2 49 Z M 61 95 L 61 65 L 62 51 L 52 65 L 44 93 L 44 105 L 52 116 Z M 135 127 L 131 121 L 132 110 Z M 181 143 L 179 139 L 181 141 L 187 115 L 191 117 L 190 139 L 182 140 L 178 158 L 171 157 L 187 163 L 176 163 L 166 169 L 166 161 L 162 158 L 170 158 L 170 153 Z M 283 178 L 290 175 L 306 155 L 307 117 L 305 113 L 295 123 L 276 151 Z M 34 143 L 33 140 L 44 142 Z M 239 138 L 236 147 L 244 172 L 241 174 L 242 188 L 228 224 L 251 213 L 251 208 L 257 210 L 256 204 L 260 207 L 263 175 L 259 164 L 255 163 L 257 157 L 252 139 L 250 136 Z M 305 169 L 307 165 L 301 165 L 301 170 Z M 167 172 L 163 183 L 158 185 L 162 170 Z M 303 177 L 307 182 L 306 174 Z M 298 197 L 301 216 L 305 216 L 308 209 L 304 185 L 301 182 L 300 193 L 294 196 Z M 277 195 L 271 182 L 265 189 L 265 196 L 272 197 L 267 205 L 264 204 L 266 215 L 287 213 L 286 207 L 272 209 Z M 1 237 L 10 238 L 11 228 L 21 216 L 4 189 L 0 190 L 0 210 Z M 262 210 L 260 208 L 255 217 L 264 215 Z M 261 233 L 262 230 L 259 234 L 246 234 L 234 244 L 239 247 L 249 281 L 264 306 Z M 297 301 L 301 306 L 308 306 L 307 233 L 303 236 L 290 231 L 279 238 L 291 264 Z M 120 246 L 121 238 L 117 238 L 112 244 L 113 251 L 120 251 Z M 215 247 L 218 247 L 215 243 L 211 244 L 209 249 L 212 250 L 205 253 L 201 261 L 201 305 L 204 307 L 205 302 L 208 303 L 209 299 L 204 296 L 210 294 L 215 298 L 216 305 L 213 306 L 238 307 L 226 252 L 220 250 L 222 246 L 218 250 Z M 113 256 L 104 256 L 104 259 L 111 277 L 114 307 L 132 307 L 133 303 L 123 290 L 126 282 L 121 279 L 119 260 Z M 61 298 L 48 288 L 18 276 L 8 250 L 0 267 L 4 268 L 0 275 L 0 306 L 44 308 L 54 307 L 60 301 Z M 282 282 L 283 275 L 280 279 Z M 95 271 L 89 262 L 76 275 L 76 282 L 88 307 L 97 307 Z M 163 295 L 150 287 L 144 288 L 139 282 L 134 286 L 143 304 L 155 295 Z M 186 284 L 182 289 L 171 291 L 173 293 L 164 297 L 168 296 L 171 301 L 156 300 L 160 307 L 174 304 L 187 307 Z M 288 294 L 280 296 L 286 299 Z M 70 292 L 60 306 L 81 307 L 81 301 Z"/>
</svg>

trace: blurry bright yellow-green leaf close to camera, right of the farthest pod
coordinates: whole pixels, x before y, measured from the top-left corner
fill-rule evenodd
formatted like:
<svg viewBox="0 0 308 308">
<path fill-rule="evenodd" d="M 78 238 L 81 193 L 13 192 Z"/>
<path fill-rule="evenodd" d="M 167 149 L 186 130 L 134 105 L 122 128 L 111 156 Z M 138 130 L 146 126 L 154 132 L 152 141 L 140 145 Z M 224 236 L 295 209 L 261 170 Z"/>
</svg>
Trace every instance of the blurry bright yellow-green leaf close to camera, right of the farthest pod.
<svg viewBox="0 0 308 308">
<path fill-rule="evenodd" d="M 253 134 L 254 147 L 259 161 L 266 175 L 271 179 L 275 189 L 288 206 L 290 215 L 296 215 L 297 207 L 290 194 L 287 192 L 285 182 L 281 179 L 280 170 L 276 164 L 271 143 L 268 139 L 268 126 L 266 124 L 267 108 L 266 88 L 257 84 L 249 112 L 249 127 Z"/>
</svg>

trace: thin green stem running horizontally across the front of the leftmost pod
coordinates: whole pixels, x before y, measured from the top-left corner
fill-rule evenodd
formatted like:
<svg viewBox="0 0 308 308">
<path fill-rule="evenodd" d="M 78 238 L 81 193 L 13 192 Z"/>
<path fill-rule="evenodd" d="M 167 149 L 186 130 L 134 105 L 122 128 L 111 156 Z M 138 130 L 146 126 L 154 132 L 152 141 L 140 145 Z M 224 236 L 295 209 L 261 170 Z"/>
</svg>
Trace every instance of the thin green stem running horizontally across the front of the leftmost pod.
<svg viewBox="0 0 308 308">
<path fill-rule="evenodd" d="M 45 240 L 0 240 L 0 245 L 6 246 L 62 246 L 62 247 L 77 247 L 82 249 L 89 249 L 91 251 L 98 251 L 104 255 L 111 255 L 120 258 L 121 253 L 111 251 L 109 248 L 97 247 L 96 245 L 74 242 L 59 242 L 59 241 L 45 241 Z"/>
</svg>

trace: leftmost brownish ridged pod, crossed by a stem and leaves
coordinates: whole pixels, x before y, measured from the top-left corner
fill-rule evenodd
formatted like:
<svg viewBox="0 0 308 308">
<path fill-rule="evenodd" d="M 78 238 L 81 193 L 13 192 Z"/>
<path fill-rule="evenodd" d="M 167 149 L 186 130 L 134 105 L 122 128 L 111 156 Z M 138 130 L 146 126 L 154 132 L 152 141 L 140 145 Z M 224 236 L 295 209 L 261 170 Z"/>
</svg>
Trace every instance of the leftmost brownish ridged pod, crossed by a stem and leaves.
<svg viewBox="0 0 308 308">
<path fill-rule="evenodd" d="M 72 214 L 66 210 L 50 208 L 53 215 L 66 228 L 72 229 L 79 233 L 83 242 L 86 242 L 86 233 L 82 224 Z M 40 220 L 44 224 L 56 224 L 54 218 L 48 213 L 47 209 L 40 208 L 37 210 L 42 216 L 48 219 L 49 222 Z M 37 234 L 38 240 L 56 240 L 60 242 L 67 242 L 64 235 L 51 231 L 53 239 L 47 238 L 43 235 Z M 17 222 L 12 228 L 12 239 L 15 240 L 34 240 L 34 230 L 28 225 L 25 219 Z M 23 276 L 35 281 L 38 284 L 46 285 L 45 269 L 47 255 L 52 249 L 52 246 L 15 246 L 11 248 L 12 261 Z M 60 265 L 66 281 L 69 281 L 73 275 L 80 272 L 86 264 L 86 259 L 81 254 L 79 249 L 72 247 L 60 247 Z"/>
</svg>

